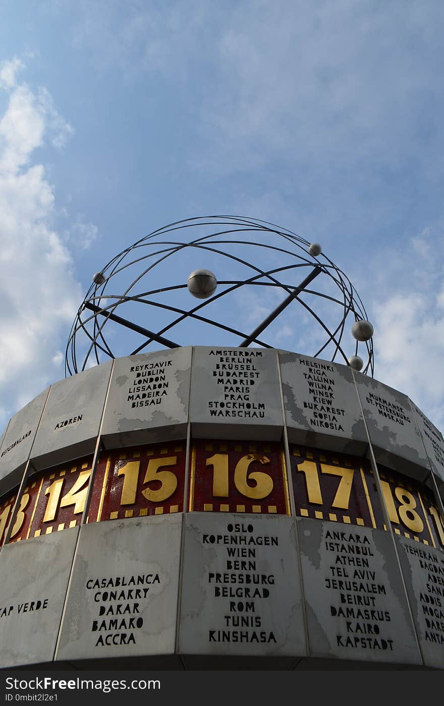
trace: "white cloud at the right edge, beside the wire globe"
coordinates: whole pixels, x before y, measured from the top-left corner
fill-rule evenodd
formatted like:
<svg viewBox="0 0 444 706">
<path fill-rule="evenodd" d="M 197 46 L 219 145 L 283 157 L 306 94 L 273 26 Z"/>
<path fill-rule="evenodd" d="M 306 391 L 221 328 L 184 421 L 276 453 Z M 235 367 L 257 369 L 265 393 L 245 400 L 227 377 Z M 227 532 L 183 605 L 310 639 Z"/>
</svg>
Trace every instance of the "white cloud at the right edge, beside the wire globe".
<svg viewBox="0 0 444 706">
<path fill-rule="evenodd" d="M 385 267 L 373 293 L 375 377 L 409 395 L 444 429 L 444 239 L 428 227 L 402 258 L 380 251 Z"/>
</svg>

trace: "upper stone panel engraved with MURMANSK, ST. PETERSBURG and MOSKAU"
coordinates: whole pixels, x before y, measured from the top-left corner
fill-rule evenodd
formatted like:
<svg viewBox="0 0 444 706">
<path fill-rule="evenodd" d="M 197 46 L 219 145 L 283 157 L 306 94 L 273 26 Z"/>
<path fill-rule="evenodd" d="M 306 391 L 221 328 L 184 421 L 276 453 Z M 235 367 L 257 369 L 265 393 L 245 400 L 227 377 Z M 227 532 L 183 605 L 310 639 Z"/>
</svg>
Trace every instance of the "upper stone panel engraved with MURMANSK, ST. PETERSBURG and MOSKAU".
<svg viewBox="0 0 444 706">
<path fill-rule="evenodd" d="M 407 395 L 362 373 L 355 379 L 376 461 L 426 479 L 430 464 Z"/>
</svg>

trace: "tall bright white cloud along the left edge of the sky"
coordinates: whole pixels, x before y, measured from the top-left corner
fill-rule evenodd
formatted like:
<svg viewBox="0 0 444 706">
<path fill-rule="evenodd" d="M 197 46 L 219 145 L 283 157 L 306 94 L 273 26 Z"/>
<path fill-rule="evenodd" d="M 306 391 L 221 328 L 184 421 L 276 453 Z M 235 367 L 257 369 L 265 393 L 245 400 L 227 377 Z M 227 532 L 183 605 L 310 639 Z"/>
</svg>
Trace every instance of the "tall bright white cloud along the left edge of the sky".
<svg viewBox="0 0 444 706">
<path fill-rule="evenodd" d="M 14 59 L 0 70 L 2 87 L 8 91 L 0 119 L 0 398 L 8 406 L 4 416 L 14 414 L 61 376 L 60 338 L 66 336 L 81 299 L 70 253 L 51 227 L 54 188 L 43 165 L 32 164 L 36 148 L 48 139 L 61 146 L 71 128 L 57 114 L 47 90 L 17 83 L 19 68 L 22 62 Z"/>
</svg>

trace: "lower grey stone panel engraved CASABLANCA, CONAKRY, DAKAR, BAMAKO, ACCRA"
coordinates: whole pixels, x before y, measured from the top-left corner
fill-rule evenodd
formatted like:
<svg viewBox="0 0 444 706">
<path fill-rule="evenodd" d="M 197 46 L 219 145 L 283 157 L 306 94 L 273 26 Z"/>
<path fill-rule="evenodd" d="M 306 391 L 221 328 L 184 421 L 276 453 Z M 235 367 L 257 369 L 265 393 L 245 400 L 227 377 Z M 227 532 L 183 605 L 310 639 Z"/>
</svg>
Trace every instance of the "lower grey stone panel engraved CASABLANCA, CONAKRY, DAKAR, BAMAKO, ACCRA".
<svg viewBox="0 0 444 706">
<path fill-rule="evenodd" d="M 174 654 L 182 517 L 83 525 L 57 659 Z"/>
</svg>

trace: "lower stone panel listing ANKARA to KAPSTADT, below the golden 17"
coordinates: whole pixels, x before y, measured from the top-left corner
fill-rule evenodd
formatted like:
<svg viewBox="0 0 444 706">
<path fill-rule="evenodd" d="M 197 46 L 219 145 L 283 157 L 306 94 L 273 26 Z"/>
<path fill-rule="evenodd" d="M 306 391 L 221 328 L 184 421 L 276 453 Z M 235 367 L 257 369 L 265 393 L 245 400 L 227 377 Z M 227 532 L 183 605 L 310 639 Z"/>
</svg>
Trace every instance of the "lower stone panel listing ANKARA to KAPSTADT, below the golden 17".
<svg viewBox="0 0 444 706">
<path fill-rule="evenodd" d="M 296 520 L 311 657 L 422 664 L 388 532 Z"/>
</svg>

